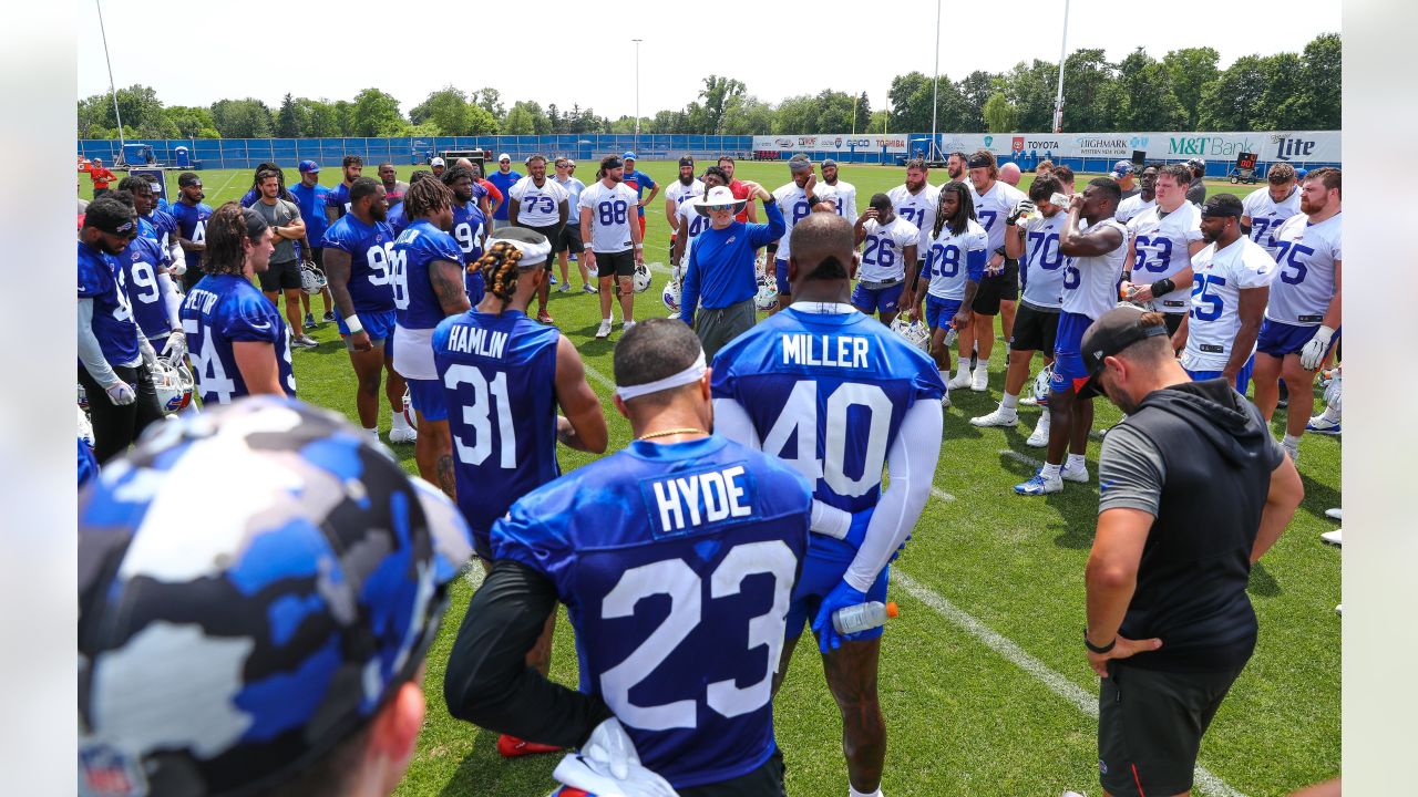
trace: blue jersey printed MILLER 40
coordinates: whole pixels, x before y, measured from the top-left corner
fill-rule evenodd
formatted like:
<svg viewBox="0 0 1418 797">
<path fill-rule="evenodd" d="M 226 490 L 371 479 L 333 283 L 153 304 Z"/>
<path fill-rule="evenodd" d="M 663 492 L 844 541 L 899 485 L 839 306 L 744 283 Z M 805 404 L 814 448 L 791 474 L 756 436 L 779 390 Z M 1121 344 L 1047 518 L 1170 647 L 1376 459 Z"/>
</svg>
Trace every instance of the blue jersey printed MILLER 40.
<svg viewBox="0 0 1418 797">
<path fill-rule="evenodd" d="M 815 484 L 847 512 L 876 505 L 886 452 L 912 403 L 946 391 L 936 363 L 861 312 L 788 308 L 713 359 L 715 398 L 752 418 L 763 451 Z"/>
</svg>

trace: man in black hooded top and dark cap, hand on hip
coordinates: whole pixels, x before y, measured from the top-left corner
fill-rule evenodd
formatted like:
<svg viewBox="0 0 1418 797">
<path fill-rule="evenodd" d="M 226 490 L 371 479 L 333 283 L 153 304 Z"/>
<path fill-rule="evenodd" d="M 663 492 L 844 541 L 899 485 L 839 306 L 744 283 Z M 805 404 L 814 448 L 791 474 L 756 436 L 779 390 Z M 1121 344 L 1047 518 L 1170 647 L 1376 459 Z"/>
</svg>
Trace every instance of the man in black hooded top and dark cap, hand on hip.
<svg viewBox="0 0 1418 797">
<path fill-rule="evenodd" d="M 1079 396 L 1103 391 L 1127 413 L 1103 438 L 1088 560 L 1100 781 L 1113 797 L 1183 794 L 1255 650 L 1251 564 L 1305 489 L 1255 406 L 1181 370 L 1161 315 L 1109 311 L 1082 349 Z"/>
</svg>

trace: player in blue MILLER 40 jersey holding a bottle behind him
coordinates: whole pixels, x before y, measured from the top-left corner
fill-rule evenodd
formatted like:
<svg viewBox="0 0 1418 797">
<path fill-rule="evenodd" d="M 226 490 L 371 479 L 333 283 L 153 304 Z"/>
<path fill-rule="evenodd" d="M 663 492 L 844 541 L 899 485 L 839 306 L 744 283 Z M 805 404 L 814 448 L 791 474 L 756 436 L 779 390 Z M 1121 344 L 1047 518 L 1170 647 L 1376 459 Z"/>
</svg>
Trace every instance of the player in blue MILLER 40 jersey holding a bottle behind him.
<svg viewBox="0 0 1418 797">
<path fill-rule="evenodd" d="M 925 352 L 848 303 L 854 247 L 845 218 L 804 218 L 791 252 L 794 303 L 715 357 L 715 423 L 814 482 L 817 533 L 793 593 L 774 689 L 810 623 L 842 716 L 851 793 L 876 796 L 886 756 L 876 696 L 882 628 L 842 635 L 832 615 L 886 600 L 886 563 L 930 496 L 946 386 Z"/>
</svg>

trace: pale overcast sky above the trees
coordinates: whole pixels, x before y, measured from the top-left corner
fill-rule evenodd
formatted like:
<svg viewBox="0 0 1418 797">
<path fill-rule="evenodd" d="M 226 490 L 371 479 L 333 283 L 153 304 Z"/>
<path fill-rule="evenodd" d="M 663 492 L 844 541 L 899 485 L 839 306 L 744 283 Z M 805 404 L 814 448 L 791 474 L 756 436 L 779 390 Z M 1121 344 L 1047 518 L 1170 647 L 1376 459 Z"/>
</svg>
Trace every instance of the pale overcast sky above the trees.
<svg viewBox="0 0 1418 797">
<path fill-rule="evenodd" d="M 640 111 L 645 116 L 695 99 L 709 74 L 737 78 L 749 94 L 766 102 L 832 88 L 865 91 L 872 108 L 881 109 L 895 75 L 912 69 L 930 75 L 934 69 L 936 3 L 930 0 L 888 6 L 590 0 L 102 3 L 113 81 L 119 87 L 150 85 L 166 105 L 255 96 L 277 106 L 286 92 L 350 99 L 376 87 L 398 98 L 407 113 L 428 92 L 452 84 L 465 91 L 491 85 L 502 92 L 508 108 L 516 99 L 535 99 L 543 108 L 554 102 L 563 109 L 579 102 L 615 119 L 635 112 L 632 38 L 644 40 Z M 499 11 L 503 7 L 516 11 Z M 834 13 L 837 7 L 844 11 Z M 964 9 L 971 10 L 968 20 Z M 1007 13 L 981 23 L 976 9 Z M 467 43 L 454 38 L 452 20 L 478 14 L 492 23 L 469 31 L 491 37 L 508 57 L 491 58 L 476 34 L 469 34 Z M 742 21 L 727 21 L 735 17 Z M 600 26 L 591 21 L 597 18 L 617 24 L 597 33 Z M 77 23 L 78 95 L 106 92 L 104 45 L 92 4 L 78 6 Z M 974 69 L 998 72 L 1031 58 L 1058 61 L 1062 24 L 1064 0 L 946 3 L 940 72 L 960 79 Z M 1139 45 L 1157 58 L 1168 50 L 1205 45 L 1217 48 L 1227 67 L 1242 55 L 1297 52 L 1316 34 L 1339 30 L 1339 0 L 1279 6 L 1072 0 L 1068 48 L 1102 47 L 1116 62 Z M 706 48 L 706 43 L 715 47 Z"/>
</svg>

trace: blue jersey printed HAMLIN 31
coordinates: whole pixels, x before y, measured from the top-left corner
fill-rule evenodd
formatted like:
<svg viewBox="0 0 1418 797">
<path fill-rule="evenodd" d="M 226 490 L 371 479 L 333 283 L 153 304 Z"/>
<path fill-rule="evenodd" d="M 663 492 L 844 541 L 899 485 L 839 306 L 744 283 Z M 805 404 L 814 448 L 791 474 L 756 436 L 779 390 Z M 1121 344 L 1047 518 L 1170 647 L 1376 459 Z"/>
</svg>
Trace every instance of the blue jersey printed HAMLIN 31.
<svg viewBox="0 0 1418 797">
<path fill-rule="evenodd" d="M 518 498 L 562 474 L 556 462 L 556 343 L 519 311 L 471 309 L 434 330 L 452 433 L 458 508 L 486 533 Z"/>
</svg>

